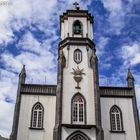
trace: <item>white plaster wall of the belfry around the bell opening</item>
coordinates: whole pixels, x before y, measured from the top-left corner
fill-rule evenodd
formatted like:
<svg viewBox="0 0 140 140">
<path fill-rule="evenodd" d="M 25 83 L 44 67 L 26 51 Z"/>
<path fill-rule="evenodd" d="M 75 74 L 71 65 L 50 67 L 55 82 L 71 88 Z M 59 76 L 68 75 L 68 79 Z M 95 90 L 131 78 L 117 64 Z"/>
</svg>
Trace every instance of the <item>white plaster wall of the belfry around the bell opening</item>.
<svg viewBox="0 0 140 140">
<path fill-rule="evenodd" d="M 93 27 L 89 20 L 86 17 L 68 17 L 67 20 L 61 23 L 61 39 L 65 39 L 68 37 L 73 37 L 73 23 L 75 20 L 81 21 L 83 24 L 83 36 L 81 35 L 74 35 L 74 37 L 88 37 L 92 40 L 93 39 Z"/>
</svg>

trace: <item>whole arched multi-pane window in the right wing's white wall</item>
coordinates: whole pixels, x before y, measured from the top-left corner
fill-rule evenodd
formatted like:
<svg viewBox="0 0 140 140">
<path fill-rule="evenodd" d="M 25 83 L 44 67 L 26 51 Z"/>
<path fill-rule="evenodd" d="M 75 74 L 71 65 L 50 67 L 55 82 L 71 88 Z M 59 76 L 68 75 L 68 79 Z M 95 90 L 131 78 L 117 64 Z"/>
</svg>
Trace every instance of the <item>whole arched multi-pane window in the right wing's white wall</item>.
<svg viewBox="0 0 140 140">
<path fill-rule="evenodd" d="M 110 109 L 111 131 L 123 131 L 122 112 L 116 105 Z"/>
</svg>

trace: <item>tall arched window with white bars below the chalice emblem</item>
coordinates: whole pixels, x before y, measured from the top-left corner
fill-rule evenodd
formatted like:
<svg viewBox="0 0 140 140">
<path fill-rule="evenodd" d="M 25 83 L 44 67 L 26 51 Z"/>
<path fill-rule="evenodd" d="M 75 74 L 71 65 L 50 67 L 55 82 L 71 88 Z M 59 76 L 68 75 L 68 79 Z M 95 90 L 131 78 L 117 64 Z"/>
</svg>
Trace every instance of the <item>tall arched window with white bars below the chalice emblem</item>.
<svg viewBox="0 0 140 140">
<path fill-rule="evenodd" d="M 80 94 L 77 93 L 72 98 L 72 123 L 74 124 L 84 124 L 86 120 L 86 112 L 85 112 L 85 99 Z"/>
</svg>

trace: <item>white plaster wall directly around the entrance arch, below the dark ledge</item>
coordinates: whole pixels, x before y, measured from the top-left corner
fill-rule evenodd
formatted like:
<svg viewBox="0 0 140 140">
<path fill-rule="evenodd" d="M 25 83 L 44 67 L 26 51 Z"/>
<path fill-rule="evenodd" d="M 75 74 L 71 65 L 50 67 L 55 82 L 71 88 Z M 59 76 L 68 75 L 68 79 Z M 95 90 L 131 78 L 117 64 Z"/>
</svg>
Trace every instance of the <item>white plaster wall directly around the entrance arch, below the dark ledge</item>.
<svg viewBox="0 0 140 140">
<path fill-rule="evenodd" d="M 81 131 L 86 134 L 91 140 L 96 140 L 96 130 L 95 128 L 92 129 L 70 129 L 63 127 L 62 128 L 62 140 L 66 140 L 66 138 L 71 135 L 75 131 Z"/>
</svg>

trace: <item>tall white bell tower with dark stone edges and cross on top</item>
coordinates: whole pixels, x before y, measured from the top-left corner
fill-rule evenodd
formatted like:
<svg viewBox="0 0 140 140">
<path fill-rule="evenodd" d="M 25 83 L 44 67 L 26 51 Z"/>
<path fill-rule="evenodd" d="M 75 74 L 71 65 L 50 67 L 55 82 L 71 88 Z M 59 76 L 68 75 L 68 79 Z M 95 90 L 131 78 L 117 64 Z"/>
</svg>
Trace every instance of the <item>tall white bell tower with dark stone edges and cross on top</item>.
<svg viewBox="0 0 140 140">
<path fill-rule="evenodd" d="M 53 140 L 103 140 L 93 22 L 78 3 L 60 16 Z"/>
</svg>

